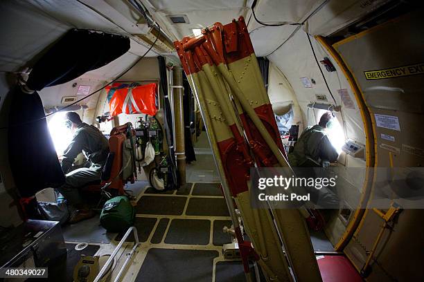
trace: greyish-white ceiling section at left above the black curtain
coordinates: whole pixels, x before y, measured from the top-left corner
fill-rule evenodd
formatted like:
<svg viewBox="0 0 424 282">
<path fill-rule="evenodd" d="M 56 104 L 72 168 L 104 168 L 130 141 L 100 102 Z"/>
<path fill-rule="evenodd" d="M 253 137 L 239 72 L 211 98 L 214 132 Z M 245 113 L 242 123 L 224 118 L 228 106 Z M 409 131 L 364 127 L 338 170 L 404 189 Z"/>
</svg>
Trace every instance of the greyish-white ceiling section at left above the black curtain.
<svg viewBox="0 0 424 282">
<path fill-rule="evenodd" d="M 100 1 L 85 1 L 87 3 L 100 3 Z M 114 1 L 118 3 L 117 1 Z M 124 3 L 119 1 L 119 3 Z M 126 3 L 126 1 L 125 1 Z M 93 4 L 94 5 L 94 4 Z M 122 6 L 116 6 L 121 8 Z M 124 15 L 124 12 L 117 12 L 113 9 L 113 21 L 103 12 L 98 12 L 94 8 L 87 6 L 82 1 L 55 1 L 55 0 L 32 0 L 32 1 L 0 1 L 0 26 L 1 26 L 1 51 L 0 68 L 1 71 L 19 71 L 22 66 L 26 66 L 30 59 L 42 52 L 48 45 L 64 35 L 71 28 L 86 28 L 114 32 L 121 35 L 131 36 L 132 33 L 145 32 L 145 24 L 137 26 L 140 15 L 131 11 L 130 6 L 126 6 L 128 14 L 133 18 Z M 103 3 L 103 10 L 110 9 L 110 6 Z M 76 42 L 75 44 L 84 44 Z M 91 75 L 105 77 L 109 79 L 113 75 L 120 73 L 134 60 L 143 55 L 148 50 L 148 44 L 143 43 L 136 37 L 131 37 L 131 48 L 121 60 L 122 66 L 115 66 L 116 71 L 108 68 L 101 68 Z M 158 52 L 150 51 L 146 57 L 156 57 Z M 112 76 L 110 76 L 112 75 Z"/>
</svg>

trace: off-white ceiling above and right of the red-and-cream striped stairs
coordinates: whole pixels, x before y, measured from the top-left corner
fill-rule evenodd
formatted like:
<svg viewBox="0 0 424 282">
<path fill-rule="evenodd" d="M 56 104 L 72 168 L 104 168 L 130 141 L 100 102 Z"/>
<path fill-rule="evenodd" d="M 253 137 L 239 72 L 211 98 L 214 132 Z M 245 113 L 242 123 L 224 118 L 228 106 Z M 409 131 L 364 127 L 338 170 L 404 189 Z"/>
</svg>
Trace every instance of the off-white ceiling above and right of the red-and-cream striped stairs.
<svg viewBox="0 0 424 282">
<path fill-rule="evenodd" d="M 134 0 L 136 1 L 136 0 Z M 368 12 L 390 0 L 258 0 L 255 14 L 267 24 L 305 23 L 302 27 L 312 35 L 330 35 L 360 19 Z M 252 13 L 253 0 L 143 0 L 154 19 L 166 27 L 173 37 L 182 39 L 193 34 L 193 28 L 204 28 L 215 22 L 229 23 L 245 17 L 255 53 L 270 55 L 286 40 L 292 38 L 298 26 L 263 26 Z M 173 23 L 169 15 L 186 15 L 188 23 Z"/>
</svg>

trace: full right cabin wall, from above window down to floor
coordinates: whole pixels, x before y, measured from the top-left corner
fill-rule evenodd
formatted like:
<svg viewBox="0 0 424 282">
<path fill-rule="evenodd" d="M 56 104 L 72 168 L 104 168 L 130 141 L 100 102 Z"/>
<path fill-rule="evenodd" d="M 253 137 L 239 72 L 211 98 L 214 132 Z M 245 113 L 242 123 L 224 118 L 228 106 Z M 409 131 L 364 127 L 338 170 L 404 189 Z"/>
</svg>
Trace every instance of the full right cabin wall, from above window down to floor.
<svg viewBox="0 0 424 282">
<path fill-rule="evenodd" d="M 318 60 L 322 60 L 324 57 L 328 57 L 336 68 L 335 72 L 329 73 L 326 68 L 315 61 L 315 57 L 312 53 L 308 35 L 302 29 L 299 30 L 294 36 L 288 40 L 279 50 L 269 56 L 270 61 L 275 64 L 279 70 L 287 77 L 288 82 L 292 86 L 294 94 L 299 102 L 301 109 L 301 116 L 303 120 L 303 126 L 312 126 L 317 124 L 320 115 L 319 111 L 315 109 L 307 108 L 309 103 L 319 102 L 323 104 L 337 104 L 341 106 L 341 112 L 336 113 L 336 118 L 344 129 L 345 138 L 355 140 L 362 144 L 366 143 L 364 133 L 364 123 L 360 114 L 360 109 L 355 100 L 353 89 L 342 70 L 337 66 L 336 62 L 327 53 L 313 37 L 310 37 L 312 46 L 315 50 Z M 328 92 L 328 88 L 324 82 L 324 79 L 319 71 L 319 68 L 323 71 L 331 93 L 335 100 Z M 310 82 L 311 87 L 305 87 L 301 81 L 301 77 L 306 77 Z M 312 83 L 312 79 L 315 84 Z M 341 96 L 337 92 L 339 89 L 346 89 L 348 97 L 351 100 L 353 109 L 348 109 L 341 99 Z M 326 100 L 317 100 L 316 95 L 326 95 Z M 344 164 L 339 164 L 335 168 L 336 173 L 340 174 L 340 181 L 337 182 L 336 194 L 339 198 L 343 198 L 346 205 L 352 209 L 357 207 L 360 203 L 360 194 L 364 185 L 365 171 L 355 176 L 351 175 L 346 171 L 348 167 L 365 167 L 366 163 L 364 160 L 357 160 L 346 157 Z M 358 172 L 359 173 L 359 172 Z M 351 217 L 349 220 L 352 220 Z M 342 238 L 346 229 L 346 223 L 339 218 L 338 212 L 335 212 L 328 220 L 325 232 L 333 245 L 336 245 L 340 238 Z"/>
</svg>

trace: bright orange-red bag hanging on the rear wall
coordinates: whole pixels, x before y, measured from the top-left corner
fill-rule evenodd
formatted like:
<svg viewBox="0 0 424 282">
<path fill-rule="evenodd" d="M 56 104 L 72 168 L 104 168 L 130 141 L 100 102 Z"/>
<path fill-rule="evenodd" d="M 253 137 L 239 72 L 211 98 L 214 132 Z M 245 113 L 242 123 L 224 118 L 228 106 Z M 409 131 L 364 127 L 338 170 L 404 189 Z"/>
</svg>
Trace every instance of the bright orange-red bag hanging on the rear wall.
<svg viewBox="0 0 424 282">
<path fill-rule="evenodd" d="M 146 113 L 156 115 L 155 83 L 139 85 L 114 83 L 106 86 L 107 102 L 112 117 L 120 113 Z"/>
</svg>

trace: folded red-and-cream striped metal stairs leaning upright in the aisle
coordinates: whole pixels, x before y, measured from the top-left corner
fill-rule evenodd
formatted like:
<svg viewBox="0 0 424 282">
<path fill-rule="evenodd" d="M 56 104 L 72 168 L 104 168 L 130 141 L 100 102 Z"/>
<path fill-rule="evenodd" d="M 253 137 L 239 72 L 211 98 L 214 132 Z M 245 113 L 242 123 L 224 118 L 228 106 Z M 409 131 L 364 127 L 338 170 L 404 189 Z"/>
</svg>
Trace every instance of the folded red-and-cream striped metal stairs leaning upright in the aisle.
<svg viewBox="0 0 424 282">
<path fill-rule="evenodd" d="M 251 238 L 244 240 L 232 218 L 245 272 L 249 261 L 258 261 L 267 280 L 292 281 L 291 267 L 299 281 L 321 281 L 299 209 L 253 209 L 250 203 L 251 189 L 257 189 L 251 169 L 289 165 L 244 19 L 215 23 L 174 44 L 202 111 L 229 209 L 234 198 Z M 308 272 L 302 271 L 306 266 Z"/>
</svg>

